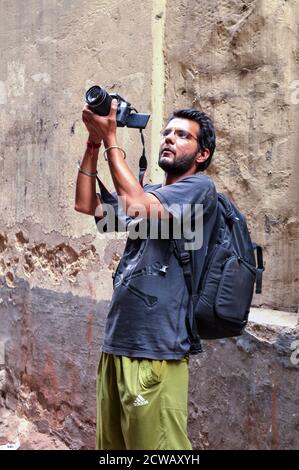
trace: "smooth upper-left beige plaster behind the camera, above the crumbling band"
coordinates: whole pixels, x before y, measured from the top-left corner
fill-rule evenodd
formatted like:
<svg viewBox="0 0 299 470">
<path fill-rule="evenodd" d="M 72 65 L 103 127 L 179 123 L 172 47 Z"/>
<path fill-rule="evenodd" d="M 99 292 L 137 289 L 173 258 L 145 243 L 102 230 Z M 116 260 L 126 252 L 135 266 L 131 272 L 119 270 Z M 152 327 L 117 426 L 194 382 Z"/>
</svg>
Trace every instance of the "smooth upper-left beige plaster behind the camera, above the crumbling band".
<svg viewBox="0 0 299 470">
<path fill-rule="evenodd" d="M 45 232 L 81 236 L 93 228 L 70 209 L 86 139 L 84 92 L 97 83 L 150 111 L 151 4 L 14 0 L 2 1 L 0 13 L 0 170 L 10 196 L 1 198 L 3 225 L 31 219 Z M 138 152 L 130 152 L 137 169 L 138 132 L 119 134 L 121 145 Z"/>
</svg>

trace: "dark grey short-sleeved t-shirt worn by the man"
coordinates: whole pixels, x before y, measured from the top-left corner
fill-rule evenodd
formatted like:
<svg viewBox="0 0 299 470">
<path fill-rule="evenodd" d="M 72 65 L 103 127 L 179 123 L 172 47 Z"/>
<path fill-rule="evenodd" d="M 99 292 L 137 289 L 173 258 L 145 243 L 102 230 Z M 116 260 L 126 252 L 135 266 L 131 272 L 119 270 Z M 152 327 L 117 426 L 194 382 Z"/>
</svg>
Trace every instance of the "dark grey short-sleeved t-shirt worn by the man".
<svg viewBox="0 0 299 470">
<path fill-rule="evenodd" d="M 173 214 L 173 223 L 182 222 L 188 204 L 192 206 L 193 217 L 194 205 L 203 205 L 203 245 L 192 251 L 195 285 L 198 285 L 216 218 L 217 194 L 213 181 L 196 173 L 163 187 L 145 185 L 144 190 L 154 194 Z M 114 208 L 118 222 L 115 229 L 130 230 L 134 219 L 121 209 L 117 194 L 101 186 L 100 196 Z M 103 351 L 128 357 L 181 359 L 190 350 L 186 327 L 190 296 L 177 257 L 169 251 L 169 239 L 163 239 L 161 233 L 160 238 L 151 238 L 152 222 L 146 223 L 148 236 L 131 239 L 129 233 L 114 276 Z M 99 224 L 98 228 L 101 232 L 109 231 Z"/>
</svg>

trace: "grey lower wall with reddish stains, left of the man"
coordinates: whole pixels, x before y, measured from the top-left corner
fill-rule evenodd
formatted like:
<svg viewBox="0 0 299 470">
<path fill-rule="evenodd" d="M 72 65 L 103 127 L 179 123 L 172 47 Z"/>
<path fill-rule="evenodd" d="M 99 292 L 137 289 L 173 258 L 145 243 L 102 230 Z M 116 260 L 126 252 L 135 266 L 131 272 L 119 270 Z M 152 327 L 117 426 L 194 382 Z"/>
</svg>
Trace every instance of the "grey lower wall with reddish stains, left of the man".
<svg viewBox="0 0 299 470">
<path fill-rule="evenodd" d="M 31 289 L 23 279 L 15 289 L 0 279 L 0 287 L 1 405 L 46 423 L 72 449 L 93 449 L 108 302 Z"/>
</svg>

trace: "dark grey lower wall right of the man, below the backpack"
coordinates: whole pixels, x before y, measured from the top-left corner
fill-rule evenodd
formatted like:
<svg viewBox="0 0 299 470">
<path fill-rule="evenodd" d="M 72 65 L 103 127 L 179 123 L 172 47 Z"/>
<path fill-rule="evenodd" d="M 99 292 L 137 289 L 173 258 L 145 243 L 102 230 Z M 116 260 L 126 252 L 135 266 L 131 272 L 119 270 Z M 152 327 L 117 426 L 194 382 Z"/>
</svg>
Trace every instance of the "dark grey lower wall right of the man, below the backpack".
<svg viewBox="0 0 299 470">
<path fill-rule="evenodd" d="M 298 327 L 250 323 L 240 338 L 204 342 L 190 368 L 194 449 L 299 448 L 298 337 Z"/>
</svg>

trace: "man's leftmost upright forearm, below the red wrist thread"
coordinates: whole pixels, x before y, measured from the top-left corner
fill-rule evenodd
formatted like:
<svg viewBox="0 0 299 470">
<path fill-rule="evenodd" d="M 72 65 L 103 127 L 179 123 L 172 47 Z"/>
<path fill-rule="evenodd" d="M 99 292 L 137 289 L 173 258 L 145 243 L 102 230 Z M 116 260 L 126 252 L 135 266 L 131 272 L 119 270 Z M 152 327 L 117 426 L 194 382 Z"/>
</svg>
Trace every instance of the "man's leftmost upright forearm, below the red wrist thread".
<svg viewBox="0 0 299 470">
<path fill-rule="evenodd" d="M 95 173 L 97 170 L 99 149 L 86 148 L 80 167 L 87 173 Z M 77 184 L 76 184 L 76 199 L 75 210 L 85 214 L 94 215 L 97 208 L 97 213 L 101 215 L 101 203 L 96 194 L 96 177 L 87 176 L 78 171 Z"/>
</svg>

